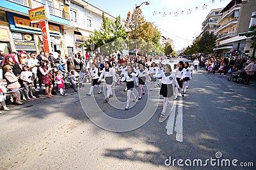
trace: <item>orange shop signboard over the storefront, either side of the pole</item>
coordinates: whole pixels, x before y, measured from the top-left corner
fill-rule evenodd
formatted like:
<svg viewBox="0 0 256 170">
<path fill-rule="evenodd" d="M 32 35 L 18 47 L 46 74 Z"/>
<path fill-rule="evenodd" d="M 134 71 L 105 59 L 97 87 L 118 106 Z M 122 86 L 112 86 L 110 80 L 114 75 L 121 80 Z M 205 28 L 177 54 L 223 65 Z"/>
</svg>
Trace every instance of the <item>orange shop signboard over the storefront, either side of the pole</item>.
<svg viewBox="0 0 256 170">
<path fill-rule="evenodd" d="M 30 20 L 26 18 L 20 18 L 15 16 L 13 17 L 13 19 L 16 27 L 22 27 L 26 29 L 41 31 L 40 23 L 31 23 Z M 55 34 L 60 34 L 60 27 L 49 24 L 49 31 Z"/>
</svg>

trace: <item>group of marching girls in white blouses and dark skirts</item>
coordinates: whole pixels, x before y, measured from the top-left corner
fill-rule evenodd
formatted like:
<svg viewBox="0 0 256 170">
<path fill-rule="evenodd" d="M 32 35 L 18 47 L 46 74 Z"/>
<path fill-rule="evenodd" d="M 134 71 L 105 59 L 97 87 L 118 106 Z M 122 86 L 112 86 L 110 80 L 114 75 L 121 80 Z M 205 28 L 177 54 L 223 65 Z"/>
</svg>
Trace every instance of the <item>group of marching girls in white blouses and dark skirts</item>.
<svg viewBox="0 0 256 170">
<path fill-rule="evenodd" d="M 148 78 L 148 80 L 150 80 L 150 90 L 152 90 L 153 85 L 156 85 L 156 80 L 158 78 L 158 84 L 161 85 L 160 95 L 164 97 L 163 111 L 161 112 L 161 117 L 164 117 L 165 115 L 166 108 L 168 107 L 168 100 L 170 99 L 170 97 L 174 96 L 173 100 L 176 100 L 178 91 L 180 92 L 181 96 L 184 97 L 186 89 L 188 89 L 189 87 L 189 81 L 191 81 L 193 71 L 193 69 L 191 68 L 191 64 L 189 64 L 188 62 L 185 62 L 184 64 L 183 61 L 179 61 L 179 63 L 177 64 L 176 73 L 172 73 L 172 67 L 170 66 L 170 64 L 164 64 L 163 67 L 161 63 L 159 63 L 159 66 L 156 67 L 156 63 L 152 62 L 152 66 L 148 71 L 147 67 L 145 67 L 143 64 L 136 64 L 133 67 L 132 64 L 122 63 L 121 66 L 121 64 L 118 63 L 118 66 L 116 66 L 116 73 L 120 76 L 120 78 L 116 80 L 115 71 L 111 66 L 111 63 L 109 61 L 106 61 L 104 65 L 105 67 L 102 70 L 102 73 L 100 74 L 100 76 L 98 76 L 97 65 L 94 63 L 92 64 L 92 67 L 95 68 L 95 70 L 93 69 L 91 71 L 94 83 L 92 81 L 90 92 L 87 94 L 88 96 L 91 96 L 94 85 L 98 85 L 98 94 L 101 94 L 100 80 L 104 77 L 108 89 L 108 93 L 106 96 L 106 102 L 108 102 L 109 96 L 112 96 L 111 88 L 113 86 L 113 79 L 115 83 L 118 83 L 118 85 L 124 82 L 124 92 L 127 91 L 127 104 L 125 106 L 125 110 L 128 110 L 131 101 L 131 95 L 133 96 L 133 102 L 135 102 L 137 99 L 134 92 L 132 92 L 132 89 L 134 89 L 134 84 L 139 86 L 140 91 L 138 100 L 141 100 L 141 96 L 145 94 L 144 85 L 146 77 Z M 175 93 L 173 93 L 173 83 L 175 85 Z"/>
</svg>

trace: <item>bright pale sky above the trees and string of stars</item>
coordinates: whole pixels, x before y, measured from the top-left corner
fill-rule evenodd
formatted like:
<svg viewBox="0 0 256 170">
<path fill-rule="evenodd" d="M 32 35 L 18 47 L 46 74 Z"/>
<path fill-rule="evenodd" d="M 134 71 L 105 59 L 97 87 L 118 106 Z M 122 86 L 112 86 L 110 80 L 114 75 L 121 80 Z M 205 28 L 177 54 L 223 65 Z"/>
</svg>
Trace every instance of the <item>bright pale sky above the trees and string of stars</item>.
<svg viewBox="0 0 256 170">
<path fill-rule="evenodd" d="M 231 0 L 85 0 L 101 10 L 124 19 L 136 4 L 142 4 L 145 20 L 154 22 L 165 38 L 173 39 L 174 50 L 191 45 L 201 32 L 202 22 L 212 9 L 225 8 Z M 204 5 L 205 4 L 205 5 Z M 197 7 L 197 9 L 196 9 Z M 183 12 L 182 12 L 183 11 Z M 176 13 L 177 12 L 177 13 Z M 166 13 L 165 17 L 164 13 Z M 171 13 L 171 14 L 170 14 Z"/>
</svg>

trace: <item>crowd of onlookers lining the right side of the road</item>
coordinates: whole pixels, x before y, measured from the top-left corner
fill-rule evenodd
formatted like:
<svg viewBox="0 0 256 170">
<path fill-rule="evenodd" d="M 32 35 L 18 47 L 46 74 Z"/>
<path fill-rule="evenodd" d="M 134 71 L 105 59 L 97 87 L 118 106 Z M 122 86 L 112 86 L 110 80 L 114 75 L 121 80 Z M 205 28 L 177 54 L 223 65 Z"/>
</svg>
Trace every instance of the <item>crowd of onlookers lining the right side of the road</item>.
<svg viewBox="0 0 256 170">
<path fill-rule="evenodd" d="M 197 67 L 205 69 L 207 73 L 219 76 L 241 71 L 244 76 L 244 84 L 248 85 L 250 80 L 255 76 L 256 63 L 252 57 L 195 57 L 193 59 L 195 70 Z"/>
</svg>

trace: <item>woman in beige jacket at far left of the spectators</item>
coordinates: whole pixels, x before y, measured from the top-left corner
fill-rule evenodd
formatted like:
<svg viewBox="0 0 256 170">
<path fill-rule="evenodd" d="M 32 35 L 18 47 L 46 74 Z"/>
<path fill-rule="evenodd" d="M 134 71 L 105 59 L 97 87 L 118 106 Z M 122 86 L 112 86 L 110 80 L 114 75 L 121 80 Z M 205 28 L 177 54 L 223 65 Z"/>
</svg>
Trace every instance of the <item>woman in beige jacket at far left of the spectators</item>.
<svg viewBox="0 0 256 170">
<path fill-rule="evenodd" d="M 6 73 L 4 74 L 4 78 L 6 78 L 7 81 L 7 89 L 10 91 L 17 90 L 20 88 L 19 83 L 19 77 L 20 75 L 15 76 L 15 74 L 12 72 L 13 67 L 10 65 L 4 66 L 4 71 Z M 17 92 L 10 93 L 13 98 L 13 104 L 21 105 L 23 103 L 20 102 L 20 92 L 17 90 Z"/>
</svg>

